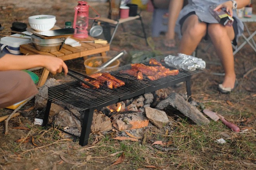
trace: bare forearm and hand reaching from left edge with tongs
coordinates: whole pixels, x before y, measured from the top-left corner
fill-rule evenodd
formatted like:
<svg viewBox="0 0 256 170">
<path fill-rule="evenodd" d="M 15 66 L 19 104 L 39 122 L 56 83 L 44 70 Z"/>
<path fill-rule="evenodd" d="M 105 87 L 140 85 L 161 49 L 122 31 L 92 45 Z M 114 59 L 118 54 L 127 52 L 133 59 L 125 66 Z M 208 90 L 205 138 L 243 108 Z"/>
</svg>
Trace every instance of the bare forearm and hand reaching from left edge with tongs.
<svg viewBox="0 0 256 170">
<path fill-rule="evenodd" d="M 53 75 L 61 73 L 62 68 L 67 75 L 67 65 L 62 59 L 47 55 L 13 55 L 5 54 L 0 58 L 0 71 L 24 70 L 35 67 L 45 67 Z"/>
</svg>

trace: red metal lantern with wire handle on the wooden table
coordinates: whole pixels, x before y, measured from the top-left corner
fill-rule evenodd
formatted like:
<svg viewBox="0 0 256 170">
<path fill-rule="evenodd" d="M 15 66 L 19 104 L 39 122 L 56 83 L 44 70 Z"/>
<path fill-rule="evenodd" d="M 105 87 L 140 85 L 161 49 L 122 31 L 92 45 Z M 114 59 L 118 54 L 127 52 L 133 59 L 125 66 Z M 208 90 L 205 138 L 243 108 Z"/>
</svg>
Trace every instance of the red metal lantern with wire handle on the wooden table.
<svg viewBox="0 0 256 170">
<path fill-rule="evenodd" d="M 89 7 L 90 6 L 85 1 L 78 1 L 78 5 L 74 7 L 74 10 L 75 10 L 74 23 L 73 23 L 73 28 L 75 29 L 74 37 L 78 37 L 78 38 L 88 37 L 87 28 L 89 24 L 89 19 L 96 19 L 96 18 L 89 18 Z M 93 11 L 96 12 L 94 9 Z M 97 18 L 99 18 L 100 15 L 97 12 L 96 14 L 98 15 Z"/>
</svg>

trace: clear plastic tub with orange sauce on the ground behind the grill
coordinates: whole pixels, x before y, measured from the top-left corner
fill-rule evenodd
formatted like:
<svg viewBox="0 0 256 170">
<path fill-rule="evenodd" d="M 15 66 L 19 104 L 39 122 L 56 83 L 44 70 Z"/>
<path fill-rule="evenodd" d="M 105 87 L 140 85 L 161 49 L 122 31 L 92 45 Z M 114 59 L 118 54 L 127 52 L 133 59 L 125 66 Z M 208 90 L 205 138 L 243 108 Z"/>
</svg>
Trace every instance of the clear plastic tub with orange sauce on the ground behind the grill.
<svg viewBox="0 0 256 170">
<path fill-rule="evenodd" d="M 111 63 L 109 66 L 106 68 L 99 68 L 99 64 L 105 63 L 107 60 L 111 59 L 111 57 L 108 56 L 95 56 L 91 57 L 85 60 L 84 65 L 85 65 L 85 71 L 86 74 L 92 74 L 98 71 L 108 71 L 108 70 L 113 70 L 115 68 L 118 68 L 120 65 L 120 61 L 117 59 L 113 63 Z"/>
</svg>

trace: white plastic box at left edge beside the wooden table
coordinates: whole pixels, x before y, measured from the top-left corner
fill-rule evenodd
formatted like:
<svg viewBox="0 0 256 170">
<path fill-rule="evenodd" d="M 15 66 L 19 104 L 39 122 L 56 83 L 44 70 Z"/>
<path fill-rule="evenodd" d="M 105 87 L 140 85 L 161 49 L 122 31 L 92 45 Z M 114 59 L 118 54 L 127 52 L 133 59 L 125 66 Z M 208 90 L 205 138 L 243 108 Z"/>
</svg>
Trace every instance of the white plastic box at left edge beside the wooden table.
<svg viewBox="0 0 256 170">
<path fill-rule="evenodd" d="M 28 31 L 24 31 L 23 33 L 31 35 L 31 32 L 28 32 Z M 0 39 L 1 50 L 6 48 L 11 54 L 21 54 L 21 52 L 19 51 L 19 46 L 22 44 L 28 44 L 31 42 L 30 36 L 23 36 L 21 34 L 13 34 L 11 36 L 13 37 L 2 37 Z M 16 37 L 24 37 L 28 39 L 16 38 Z"/>
</svg>

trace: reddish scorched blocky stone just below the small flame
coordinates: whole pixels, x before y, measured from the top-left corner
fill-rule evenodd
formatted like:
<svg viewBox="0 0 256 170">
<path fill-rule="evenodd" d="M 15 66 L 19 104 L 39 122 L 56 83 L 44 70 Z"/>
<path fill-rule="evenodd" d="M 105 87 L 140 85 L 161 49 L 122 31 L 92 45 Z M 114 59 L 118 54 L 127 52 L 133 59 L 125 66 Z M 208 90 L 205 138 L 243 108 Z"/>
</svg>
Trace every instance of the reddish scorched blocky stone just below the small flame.
<svg viewBox="0 0 256 170">
<path fill-rule="evenodd" d="M 115 114 L 112 118 L 113 127 L 118 131 L 144 128 L 149 124 L 149 120 L 142 112 Z"/>
</svg>

